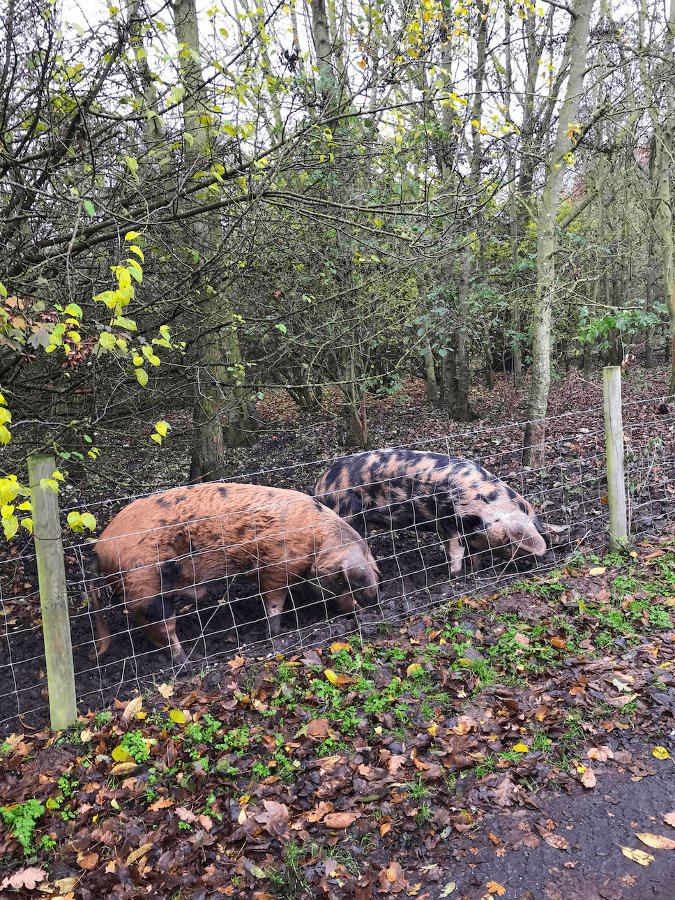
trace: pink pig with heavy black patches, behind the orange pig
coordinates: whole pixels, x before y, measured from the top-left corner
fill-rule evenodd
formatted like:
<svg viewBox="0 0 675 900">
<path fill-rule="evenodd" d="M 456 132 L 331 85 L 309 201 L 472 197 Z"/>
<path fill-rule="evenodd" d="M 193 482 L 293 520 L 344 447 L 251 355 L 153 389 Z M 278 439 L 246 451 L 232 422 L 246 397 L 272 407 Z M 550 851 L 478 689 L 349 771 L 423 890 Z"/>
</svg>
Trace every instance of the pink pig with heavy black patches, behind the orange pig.
<svg viewBox="0 0 675 900">
<path fill-rule="evenodd" d="M 436 529 L 453 574 L 465 547 L 511 560 L 541 556 L 551 545 L 527 500 L 457 456 L 397 449 L 343 456 L 311 493 L 363 536 L 371 527 Z"/>
</svg>

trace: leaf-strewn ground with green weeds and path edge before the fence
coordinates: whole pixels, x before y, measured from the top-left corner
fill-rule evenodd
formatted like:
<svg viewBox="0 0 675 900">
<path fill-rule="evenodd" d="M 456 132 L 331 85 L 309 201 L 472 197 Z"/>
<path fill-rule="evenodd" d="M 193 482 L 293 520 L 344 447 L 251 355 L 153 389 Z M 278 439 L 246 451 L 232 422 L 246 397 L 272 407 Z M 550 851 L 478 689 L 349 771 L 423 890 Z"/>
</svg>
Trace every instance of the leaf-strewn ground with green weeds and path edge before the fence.
<svg viewBox="0 0 675 900">
<path fill-rule="evenodd" d="M 672 900 L 673 545 L 26 729 L 0 896 Z"/>
</svg>

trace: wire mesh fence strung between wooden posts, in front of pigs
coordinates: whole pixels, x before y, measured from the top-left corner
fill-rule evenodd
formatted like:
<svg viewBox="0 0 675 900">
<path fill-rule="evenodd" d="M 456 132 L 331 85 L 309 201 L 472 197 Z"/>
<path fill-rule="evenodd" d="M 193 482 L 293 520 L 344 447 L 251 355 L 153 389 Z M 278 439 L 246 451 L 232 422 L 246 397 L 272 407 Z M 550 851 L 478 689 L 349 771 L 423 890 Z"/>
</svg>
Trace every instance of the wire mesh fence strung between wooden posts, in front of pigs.
<svg viewBox="0 0 675 900">
<path fill-rule="evenodd" d="M 636 536 L 668 527 L 673 513 L 675 419 L 660 401 L 624 405 Z M 69 510 L 61 510 L 80 709 L 106 706 L 122 687 L 128 693 L 148 680 L 186 677 L 238 653 L 295 653 L 355 632 L 374 639 L 429 608 L 536 578 L 576 551 L 599 553 L 608 527 L 602 409 L 586 410 L 581 420 L 581 428 L 579 413 L 547 420 L 545 462 L 537 469 L 521 464 L 518 425 L 419 441 L 408 448 L 418 456 L 394 457 L 399 469 L 384 476 L 365 472 L 361 457 L 348 467 L 351 482 L 333 485 L 353 490 L 362 504 L 372 500 L 361 518 L 338 518 L 328 496 L 285 490 L 317 486 L 333 459 L 242 474 L 231 488 L 197 485 L 92 504 L 87 511 L 110 548 L 104 554 L 99 545 L 100 573 L 92 571 L 93 542 L 68 532 Z M 440 462 L 432 479 L 419 463 L 434 462 L 433 454 L 475 465 L 460 461 L 451 474 Z M 411 500 L 420 497 L 424 502 Z M 533 526 L 525 534 L 523 517 L 536 519 L 541 531 Z M 550 547 L 536 543 L 541 534 Z M 100 592 L 103 607 L 110 590 L 98 616 L 91 601 Z M 31 540 L 11 545 L 0 563 L 0 612 L 0 729 L 15 730 L 18 719 L 40 728 L 47 679 Z"/>
</svg>

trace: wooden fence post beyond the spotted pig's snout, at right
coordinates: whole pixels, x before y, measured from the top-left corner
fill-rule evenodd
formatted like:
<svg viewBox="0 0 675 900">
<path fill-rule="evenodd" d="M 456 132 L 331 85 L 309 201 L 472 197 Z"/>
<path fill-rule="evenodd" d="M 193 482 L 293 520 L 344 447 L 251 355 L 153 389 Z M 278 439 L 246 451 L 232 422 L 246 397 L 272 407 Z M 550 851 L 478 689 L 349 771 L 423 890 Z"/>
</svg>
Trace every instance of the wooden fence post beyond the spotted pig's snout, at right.
<svg viewBox="0 0 675 900">
<path fill-rule="evenodd" d="M 624 422 L 621 416 L 621 366 L 602 370 L 605 397 L 605 444 L 609 503 L 609 549 L 617 550 L 628 536 L 626 525 L 626 475 L 624 473 Z"/>
</svg>

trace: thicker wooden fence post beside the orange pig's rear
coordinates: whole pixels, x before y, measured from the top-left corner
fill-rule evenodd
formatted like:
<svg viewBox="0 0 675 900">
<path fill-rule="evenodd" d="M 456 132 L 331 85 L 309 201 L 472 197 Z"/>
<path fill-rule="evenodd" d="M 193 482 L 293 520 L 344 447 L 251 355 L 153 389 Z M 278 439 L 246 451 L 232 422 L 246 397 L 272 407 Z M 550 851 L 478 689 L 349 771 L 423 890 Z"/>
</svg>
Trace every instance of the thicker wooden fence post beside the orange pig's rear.
<svg viewBox="0 0 675 900">
<path fill-rule="evenodd" d="M 55 469 L 53 456 L 35 454 L 28 457 L 32 528 L 38 561 L 42 632 L 47 660 L 49 717 L 51 727 L 58 731 L 76 721 L 77 707 L 58 500 L 54 491 L 40 485 L 42 479 L 51 478 Z"/>
</svg>

